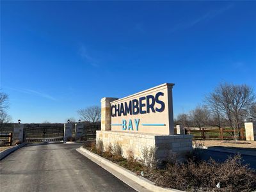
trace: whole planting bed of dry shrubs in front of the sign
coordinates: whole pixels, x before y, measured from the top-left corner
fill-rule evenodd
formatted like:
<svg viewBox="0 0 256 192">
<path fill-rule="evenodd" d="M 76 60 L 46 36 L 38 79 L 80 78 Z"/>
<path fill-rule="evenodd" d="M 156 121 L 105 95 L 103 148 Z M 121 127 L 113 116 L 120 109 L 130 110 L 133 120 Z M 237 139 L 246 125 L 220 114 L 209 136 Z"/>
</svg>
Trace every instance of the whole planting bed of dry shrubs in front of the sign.
<svg viewBox="0 0 256 192">
<path fill-rule="evenodd" d="M 253 191 L 256 189 L 256 173 L 241 163 L 241 156 L 227 159 L 225 163 L 217 163 L 212 159 L 207 162 L 200 161 L 196 159 L 196 153 L 194 153 L 188 156 L 188 161 L 185 163 L 177 163 L 171 156 L 168 161 L 159 163 L 154 159 L 155 150 L 152 148 L 143 148 L 141 159 L 135 159 L 132 150 L 127 151 L 127 158 L 124 158 L 118 143 L 106 147 L 99 143 L 97 142 L 96 146 L 95 141 L 87 141 L 84 148 L 163 188 L 183 191 Z"/>
</svg>

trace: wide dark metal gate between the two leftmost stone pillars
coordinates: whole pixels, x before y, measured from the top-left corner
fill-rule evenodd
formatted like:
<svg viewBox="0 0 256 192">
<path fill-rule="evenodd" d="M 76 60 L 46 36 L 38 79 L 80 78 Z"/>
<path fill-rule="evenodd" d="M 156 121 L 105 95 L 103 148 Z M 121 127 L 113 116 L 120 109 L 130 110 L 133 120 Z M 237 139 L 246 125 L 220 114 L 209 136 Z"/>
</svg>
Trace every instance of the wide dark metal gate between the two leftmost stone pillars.
<svg viewBox="0 0 256 192">
<path fill-rule="evenodd" d="M 43 141 L 62 141 L 64 127 L 63 125 L 40 125 L 24 127 L 24 141 L 28 143 Z"/>
</svg>

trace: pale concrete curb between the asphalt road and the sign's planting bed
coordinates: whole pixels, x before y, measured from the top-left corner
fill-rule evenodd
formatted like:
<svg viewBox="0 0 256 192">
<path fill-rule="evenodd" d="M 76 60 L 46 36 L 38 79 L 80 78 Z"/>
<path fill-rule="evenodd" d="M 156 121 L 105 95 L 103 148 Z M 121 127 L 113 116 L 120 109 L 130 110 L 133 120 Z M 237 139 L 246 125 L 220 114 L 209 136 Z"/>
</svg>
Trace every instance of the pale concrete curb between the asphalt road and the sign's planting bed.
<svg viewBox="0 0 256 192">
<path fill-rule="evenodd" d="M 169 189 L 169 188 L 161 188 L 159 186 L 156 186 L 154 182 L 151 182 L 148 179 L 145 179 L 144 177 L 141 177 L 139 175 L 136 175 L 135 173 L 131 172 L 130 170 L 127 170 L 123 168 L 122 166 L 119 166 L 118 164 L 115 164 L 108 159 L 105 159 L 104 157 L 100 157 L 97 154 L 94 154 L 93 152 L 90 152 L 89 150 L 86 150 L 83 147 L 77 148 L 76 149 L 78 152 L 83 152 L 84 156 L 88 157 L 91 159 L 94 163 L 99 164 L 102 168 L 110 172 L 111 174 L 115 175 L 118 179 L 122 180 L 131 188 L 134 188 L 137 191 L 166 191 L 166 192 L 181 192 L 180 190 L 177 189 Z M 110 171 L 109 171 L 110 168 Z M 111 171 L 113 170 L 113 171 Z M 130 181 L 129 181 L 130 180 Z M 132 180 L 132 182 L 131 182 Z M 135 186 L 134 186 L 135 184 Z M 140 187 L 138 187 L 138 186 Z M 145 190 L 146 189 L 146 190 Z"/>
</svg>

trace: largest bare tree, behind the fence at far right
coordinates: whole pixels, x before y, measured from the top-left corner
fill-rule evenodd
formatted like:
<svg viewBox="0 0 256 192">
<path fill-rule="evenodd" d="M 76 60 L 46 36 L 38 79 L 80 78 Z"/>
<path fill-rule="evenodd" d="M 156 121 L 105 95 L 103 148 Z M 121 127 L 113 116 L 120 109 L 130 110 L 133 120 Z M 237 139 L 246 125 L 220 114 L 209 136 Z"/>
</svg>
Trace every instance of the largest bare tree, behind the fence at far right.
<svg viewBox="0 0 256 192">
<path fill-rule="evenodd" d="M 241 129 L 244 119 L 255 103 L 255 93 L 246 84 L 220 84 L 206 97 L 209 108 L 225 118 L 233 129 Z"/>
</svg>

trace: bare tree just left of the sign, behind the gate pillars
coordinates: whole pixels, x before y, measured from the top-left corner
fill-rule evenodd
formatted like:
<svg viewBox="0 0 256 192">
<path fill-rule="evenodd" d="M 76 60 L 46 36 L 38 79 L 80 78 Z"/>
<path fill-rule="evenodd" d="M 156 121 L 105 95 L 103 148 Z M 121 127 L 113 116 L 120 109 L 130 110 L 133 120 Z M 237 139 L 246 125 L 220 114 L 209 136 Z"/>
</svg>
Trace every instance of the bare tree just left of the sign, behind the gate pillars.
<svg viewBox="0 0 256 192">
<path fill-rule="evenodd" d="M 88 108 L 77 110 L 81 120 L 86 122 L 99 122 L 101 109 L 99 106 L 90 106 Z"/>
</svg>

